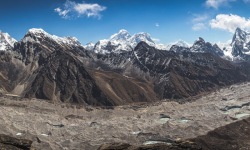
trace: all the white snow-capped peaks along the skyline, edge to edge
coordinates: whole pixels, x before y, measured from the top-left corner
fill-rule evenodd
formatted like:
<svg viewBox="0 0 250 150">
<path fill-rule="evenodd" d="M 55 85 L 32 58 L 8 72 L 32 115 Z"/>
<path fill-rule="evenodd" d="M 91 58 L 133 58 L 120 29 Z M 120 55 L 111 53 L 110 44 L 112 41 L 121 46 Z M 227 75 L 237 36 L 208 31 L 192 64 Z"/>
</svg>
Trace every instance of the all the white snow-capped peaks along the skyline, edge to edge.
<svg viewBox="0 0 250 150">
<path fill-rule="evenodd" d="M 33 37 L 31 35 L 34 35 Z M 179 40 L 174 43 L 164 45 L 155 43 L 148 33 L 141 32 L 134 35 L 130 35 L 128 31 L 122 29 L 118 33 L 113 34 L 109 39 L 99 40 L 97 43 L 88 43 L 82 45 L 75 37 L 58 37 L 50 35 L 43 29 L 30 29 L 22 41 L 33 39 L 34 41 L 45 36 L 52 38 L 60 45 L 74 45 L 82 46 L 86 50 L 94 51 L 95 53 L 122 53 L 124 51 L 132 51 L 136 45 L 143 41 L 148 45 L 153 46 L 160 50 L 171 50 L 171 51 L 190 51 L 190 52 L 211 52 L 218 54 L 219 56 L 232 61 L 248 60 L 250 55 L 250 33 L 237 28 L 232 40 L 228 43 L 216 43 L 211 44 L 205 42 L 203 38 L 198 38 L 193 45 L 188 44 L 185 41 Z M 11 50 L 14 48 L 14 44 L 17 41 L 12 38 L 8 33 L 0 32 L 0 50 Z"/>
</svg>

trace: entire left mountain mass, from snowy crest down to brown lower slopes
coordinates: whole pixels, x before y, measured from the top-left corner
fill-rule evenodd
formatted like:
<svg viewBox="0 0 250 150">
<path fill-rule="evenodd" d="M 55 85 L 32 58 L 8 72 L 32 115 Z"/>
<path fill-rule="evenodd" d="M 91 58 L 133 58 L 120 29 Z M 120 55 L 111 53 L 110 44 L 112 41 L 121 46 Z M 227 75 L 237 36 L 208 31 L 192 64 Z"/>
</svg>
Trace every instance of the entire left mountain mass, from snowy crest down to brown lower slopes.
<svg viewBox="0 0 250 150">
<path fill-rule="evenodd" d="M 68 39 L 29 30 L 1 55 L 1 92 L 82 105 L 159 101 L 152 83 L 86 67 L 95 65 L 95 55 Z"/>
</svg>

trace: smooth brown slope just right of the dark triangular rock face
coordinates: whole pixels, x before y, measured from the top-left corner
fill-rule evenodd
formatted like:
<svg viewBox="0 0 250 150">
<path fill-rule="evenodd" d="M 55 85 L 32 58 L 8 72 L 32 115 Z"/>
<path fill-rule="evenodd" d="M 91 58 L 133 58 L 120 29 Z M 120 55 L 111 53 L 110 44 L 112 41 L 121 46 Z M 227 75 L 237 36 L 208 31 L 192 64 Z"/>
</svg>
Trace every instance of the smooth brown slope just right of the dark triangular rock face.
<svg viewBox="0 0 250 150">
<path fill-rule="evenodd" d="M 153 83 L 110 71 L 92 70 L 91 72 L 100 89 L 112 99 L 114 105 L 160 100 L 154 92 Z"/>
</svg>

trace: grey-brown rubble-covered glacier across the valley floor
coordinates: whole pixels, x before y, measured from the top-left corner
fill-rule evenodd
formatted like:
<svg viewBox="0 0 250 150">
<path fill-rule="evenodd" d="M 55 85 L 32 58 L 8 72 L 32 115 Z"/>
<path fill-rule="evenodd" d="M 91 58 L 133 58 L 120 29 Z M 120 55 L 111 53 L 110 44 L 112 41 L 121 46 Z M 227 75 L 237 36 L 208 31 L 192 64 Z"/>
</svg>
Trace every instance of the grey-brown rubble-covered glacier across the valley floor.
<svg viewBox="0 0 250 150">
<path fill-rule="evenodd" d="M 184 104 L 166 100 L 112 109 L 2 95 L 0 134 L 30 140 L 37 149 L 96 150 L 105 143 L 145 147 L 197 136 L 201 136 L 197 143 L 205 141 L 205 146 L 217 140 L 221 141 L 218 147 L 227 142 L 240 145 L 244 139 L 247 143 L 246 121 L 232 124 L 235 131 L 220 127 L 250 116 L 249 93 L 250 84 L 243 83 L 187 99 L 190 102 Z"/>
</svg>

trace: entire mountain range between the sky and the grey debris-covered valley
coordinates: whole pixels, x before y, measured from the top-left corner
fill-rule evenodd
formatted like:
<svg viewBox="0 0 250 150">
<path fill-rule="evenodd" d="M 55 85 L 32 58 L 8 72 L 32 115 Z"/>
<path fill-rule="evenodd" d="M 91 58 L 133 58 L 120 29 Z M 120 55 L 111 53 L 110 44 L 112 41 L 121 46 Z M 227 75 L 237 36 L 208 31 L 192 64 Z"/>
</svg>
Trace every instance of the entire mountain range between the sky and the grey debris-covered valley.
<svg viewBox="0 0 250 150">
<path fill-rule="evenodd" d="M 20 41 L 0 35 L 0 92 L 20 97 L 95 106 L 182 101 L 250 79 L 250 34 L 239 28 L 223 48 L 203 38 L 168 48 L 126 30 L 85 46 L 42 29 Z"/>
</svg>

